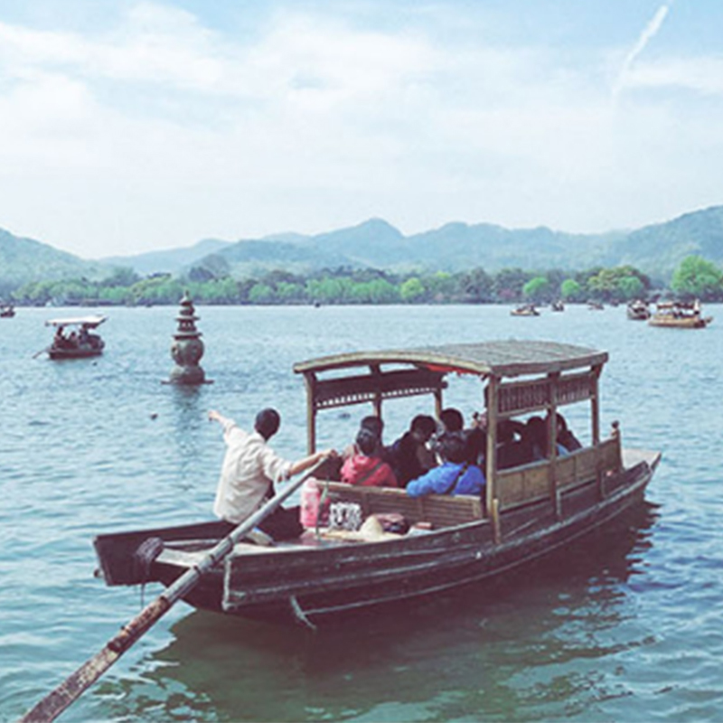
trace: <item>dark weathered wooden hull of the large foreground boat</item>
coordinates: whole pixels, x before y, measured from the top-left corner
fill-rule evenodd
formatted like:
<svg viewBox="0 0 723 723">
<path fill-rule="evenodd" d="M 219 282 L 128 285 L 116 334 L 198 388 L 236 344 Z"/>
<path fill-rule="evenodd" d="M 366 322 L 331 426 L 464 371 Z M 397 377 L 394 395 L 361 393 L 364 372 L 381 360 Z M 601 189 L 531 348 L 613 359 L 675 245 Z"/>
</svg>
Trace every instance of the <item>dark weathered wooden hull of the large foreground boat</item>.
<svg viewBox="0 0 723 723">
<path fill-rule="evenodd" d="M 559 513 L 549 501 L 503 513 L 498 536 L 492 521 L 484 518 L 375 542 L 330 544 L 310 534 L 302 545 L 240 545 L 183 599 L 229 615 L 317 622 L 504 575 L 643 502 L 653 467 L 642 462 L 606 480 L 603 499 L 596 482 L 577 487 L 561 496 Z M 104 535 L 95 547 L 108 584 L 155 581 L 168 586 L 211 546 L 214 534 L 218 540 L 218 530 L 218 523 L 211 522 Z M 191 542 L 204 536 L 206 544 Z M 134 553 L 149 537 L 164 540 L 166 549 L 141 570 Z"/>
</svg>

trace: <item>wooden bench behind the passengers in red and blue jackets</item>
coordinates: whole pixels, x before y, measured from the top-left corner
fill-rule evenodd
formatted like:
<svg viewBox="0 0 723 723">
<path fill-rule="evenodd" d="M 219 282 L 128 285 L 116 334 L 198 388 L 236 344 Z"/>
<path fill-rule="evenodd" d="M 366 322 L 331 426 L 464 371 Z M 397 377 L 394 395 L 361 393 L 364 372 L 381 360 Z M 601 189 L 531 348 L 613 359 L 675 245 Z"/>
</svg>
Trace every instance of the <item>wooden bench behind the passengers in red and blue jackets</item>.
<svg viewBox="0 0 723 723">
<path fill-rule="evenodd" d="M 356 487 L 342 482 L 323 481 L 319 481 L 319 484 L 322 490 L 328 485 L 332 501 L 357 502 L 365 517 L 398 512 L 410 524 L 424 521 L 429 522 L 433 529 L 438 529 L 480 520 L 484 516 L 482 499 L 470 494 L 409 497 L 404 490 L 392 487 Z"/>
</svg>

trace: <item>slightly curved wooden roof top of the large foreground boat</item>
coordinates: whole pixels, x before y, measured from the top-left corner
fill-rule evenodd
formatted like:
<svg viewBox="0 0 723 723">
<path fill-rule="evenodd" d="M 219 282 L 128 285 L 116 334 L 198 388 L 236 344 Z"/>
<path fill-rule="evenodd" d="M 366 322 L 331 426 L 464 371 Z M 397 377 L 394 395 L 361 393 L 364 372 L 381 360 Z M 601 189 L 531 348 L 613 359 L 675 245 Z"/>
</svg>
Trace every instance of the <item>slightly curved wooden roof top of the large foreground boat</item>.
<svg viewBox="0 0 723 723">
<path fill-rule="evenodd" d="M 408 363 L 432 371 L 515 377 L 598 366 L 604 364 L 607 358 L 607 352 L 572 344 L 507 340 L 334 354 L 298 362 L 294 365 L 294 371 L 315 373 L 357 366 Z"/>
</svg>

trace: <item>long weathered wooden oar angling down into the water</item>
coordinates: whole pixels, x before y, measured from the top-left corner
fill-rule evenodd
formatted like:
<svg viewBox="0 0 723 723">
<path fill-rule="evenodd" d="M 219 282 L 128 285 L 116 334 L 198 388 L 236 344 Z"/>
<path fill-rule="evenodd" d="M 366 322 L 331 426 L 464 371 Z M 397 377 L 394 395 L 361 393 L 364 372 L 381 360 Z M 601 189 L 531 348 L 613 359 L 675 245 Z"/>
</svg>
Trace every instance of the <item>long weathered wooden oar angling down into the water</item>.
<svg viewBox="0 0 723 723">
<path fill-rule="evenodd" d="M 309 477 L 313 476 L 324 465 L 326 459 L 327 457 L 322 457 L 303 477 L 293 484 L 289 484 L 284 492 L 272 497 L 258 512 L 241 522 L 236 529 L 211 548 L 198 565 L 184 572 L 172 585 L 166 587 L 161 595 L 144 607 L 125 627 L 121 628 L 120 633 L 111 638 L 103 650 L 84 662 L 61 685 L 25 713 L 20 719 L 20 723 L 45 723 L 45 721 L 55 720 L 71 703 L 78 700 L 82 692 L 97 681 L 131 645 L 146 634 L 146 631 L 160 620 L 171 609 L 171 606 L 190 592 L 206 572 L 224 559 L 247 532 L 256 527 L 271 512 L 274 512 L 281 502 L 284 502 Z"/>
</svg>

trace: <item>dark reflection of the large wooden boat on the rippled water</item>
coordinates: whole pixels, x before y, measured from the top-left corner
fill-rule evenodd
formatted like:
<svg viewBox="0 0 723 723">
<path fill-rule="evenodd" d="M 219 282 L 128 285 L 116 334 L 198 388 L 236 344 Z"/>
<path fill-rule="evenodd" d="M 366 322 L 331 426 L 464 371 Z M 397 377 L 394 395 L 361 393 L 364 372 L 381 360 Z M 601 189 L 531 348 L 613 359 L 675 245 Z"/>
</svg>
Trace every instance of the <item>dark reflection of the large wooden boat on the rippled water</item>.
<svg viewBox="0 0 723 723">
<path fill-rule="evenodd" d="M 608 661 L 653 640 L 641 628 L 617 641 L 615 630 L 634 612 L 627 584 L 640 574 L 655 519 L 645 505 L 572 554 L 316 633 L 193 612 L 171 627 L 169 645 L 148 655 L 142 678 L 106 685 L 103 695 L 122 685 L 124 709 L 143 720 L 207 719 L 210 707 L 218 720 L 574 714 L 624 695 Z"/>
</svg>

